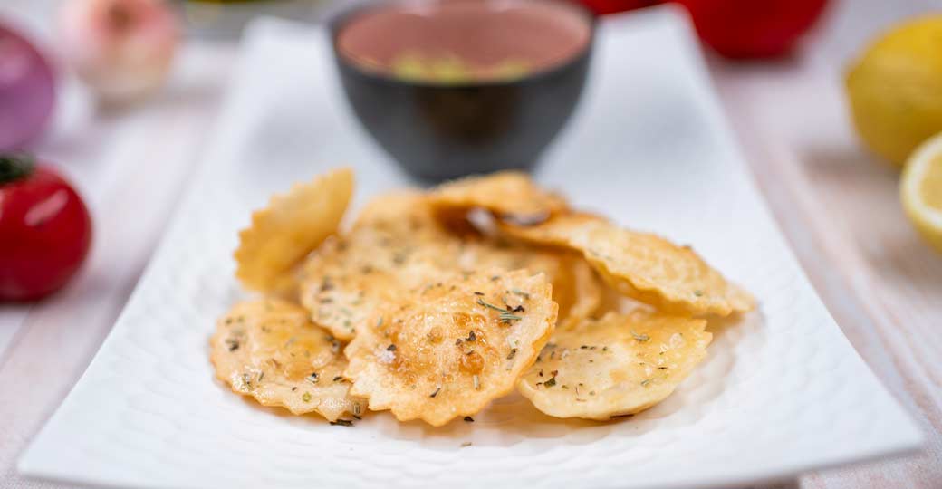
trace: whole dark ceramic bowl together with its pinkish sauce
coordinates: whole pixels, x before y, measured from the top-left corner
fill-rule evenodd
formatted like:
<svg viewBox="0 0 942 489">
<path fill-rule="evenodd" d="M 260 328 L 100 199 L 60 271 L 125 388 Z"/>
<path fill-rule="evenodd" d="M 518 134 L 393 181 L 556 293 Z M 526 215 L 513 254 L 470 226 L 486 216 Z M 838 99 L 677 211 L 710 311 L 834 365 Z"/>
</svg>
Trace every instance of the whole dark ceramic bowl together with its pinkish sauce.
<svg viewBox="0 0 942 489">
<path fill-rule="evenodd" d="M 415 176 L 529 169 L 577 105 L 593 16 L 562 0 L 420 0 L 332 24 L 344 90 Z"/>
</svg>

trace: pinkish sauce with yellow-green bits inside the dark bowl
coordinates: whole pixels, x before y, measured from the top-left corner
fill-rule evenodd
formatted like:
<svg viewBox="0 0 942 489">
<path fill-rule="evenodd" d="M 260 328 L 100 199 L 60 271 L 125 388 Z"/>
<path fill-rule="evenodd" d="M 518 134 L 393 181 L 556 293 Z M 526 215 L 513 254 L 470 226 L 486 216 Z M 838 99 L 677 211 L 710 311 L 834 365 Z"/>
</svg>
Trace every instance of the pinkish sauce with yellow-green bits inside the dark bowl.
<svg viewBox="0 0 942 489">
<path fill-rule="evenodd" d="M 366 71 L 430 83 L 506 81 L 586 50 L 591 24 L 555 2 L 445 1 L 375 8 L 337 49 Z"/>
</svg>

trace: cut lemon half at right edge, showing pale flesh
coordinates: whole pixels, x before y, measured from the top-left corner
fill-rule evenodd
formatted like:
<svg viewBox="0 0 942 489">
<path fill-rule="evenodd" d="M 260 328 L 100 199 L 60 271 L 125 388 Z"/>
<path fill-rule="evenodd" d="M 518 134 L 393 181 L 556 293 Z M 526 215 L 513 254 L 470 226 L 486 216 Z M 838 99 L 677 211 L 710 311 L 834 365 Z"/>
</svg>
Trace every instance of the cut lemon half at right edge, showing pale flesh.
<svg viewBox="0 0 942 489">
<path fill-rule="evenodd" d="M 942 133 L 909 157 L 902 171 L 900 196 L 909 220 L 942 252 Z"/>
</svg>

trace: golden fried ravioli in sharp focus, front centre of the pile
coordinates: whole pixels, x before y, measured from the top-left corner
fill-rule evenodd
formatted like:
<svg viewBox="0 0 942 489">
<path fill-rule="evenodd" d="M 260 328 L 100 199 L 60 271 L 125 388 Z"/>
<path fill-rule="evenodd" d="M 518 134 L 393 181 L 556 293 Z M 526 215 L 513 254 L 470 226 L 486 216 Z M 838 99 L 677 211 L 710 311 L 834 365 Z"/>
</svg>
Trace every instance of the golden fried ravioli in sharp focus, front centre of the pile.
<svg viewBox="0 0 942 489">
<path fill-rule="evenodd" d="M 513 389 L 553 333 L 550 289 L 525 270 L 440 275 L 377 310 L 349 343 L 350 392 L 400 421 L 442 426 L 478 413 Z"/>
</svg>

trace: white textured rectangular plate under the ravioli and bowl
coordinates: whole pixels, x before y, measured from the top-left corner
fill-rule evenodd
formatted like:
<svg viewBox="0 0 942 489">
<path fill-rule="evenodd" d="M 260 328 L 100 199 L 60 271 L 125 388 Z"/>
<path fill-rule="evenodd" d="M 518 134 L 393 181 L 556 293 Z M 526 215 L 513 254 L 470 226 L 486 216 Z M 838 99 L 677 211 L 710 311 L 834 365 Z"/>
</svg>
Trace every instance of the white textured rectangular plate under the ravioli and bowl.
<svg viewBox="0 0 942 489">
<path fill-rule="evenodd" d="M 410 185 L 353 120 L 325 33 L 268 21 L 249 31 L 151 266 L 20 470 L 139 487 L 694 487 L 918 447 L 776 229 L 684 15 L 611 18 L 596 48 L 582 104 L 537 177 L 577 205 L 694 243 L 761 302 L 712 324 L 707 361 L 670 399 L 608 424 L 542 416 L 511 396 L 475 423 L 432 429 L 383 413 L 345 428 L 215 382 L 207 338 L 241 295 L 231 256 L 251 209 L 340 164 L 357 168 L 356 204 Z"/>
</svg>

